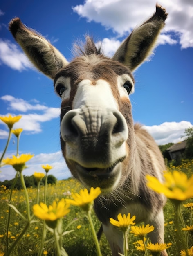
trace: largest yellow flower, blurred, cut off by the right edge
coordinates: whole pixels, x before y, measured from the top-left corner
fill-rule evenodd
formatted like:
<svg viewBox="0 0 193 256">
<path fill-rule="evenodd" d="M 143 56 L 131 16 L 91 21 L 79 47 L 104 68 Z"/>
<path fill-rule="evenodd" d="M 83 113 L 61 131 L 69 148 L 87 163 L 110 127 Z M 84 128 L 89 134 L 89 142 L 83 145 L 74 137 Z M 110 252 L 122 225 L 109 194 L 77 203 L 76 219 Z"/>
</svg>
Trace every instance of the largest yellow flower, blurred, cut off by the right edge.
<svg viewBox="0 0 193 256">
<path fill-rule="evenodd" d="M 170 199 L 184 201 L 193 197 L 193 175 L 188 179 L 185 173 L 173 171 L 173 173 L 166 172 L 164 177 L 165 181 L 161 183 L 156 177 L 146 175 L 147 186 Z"/>
</svg>

